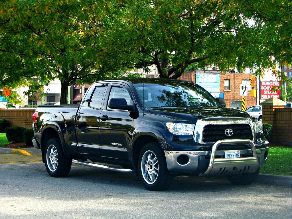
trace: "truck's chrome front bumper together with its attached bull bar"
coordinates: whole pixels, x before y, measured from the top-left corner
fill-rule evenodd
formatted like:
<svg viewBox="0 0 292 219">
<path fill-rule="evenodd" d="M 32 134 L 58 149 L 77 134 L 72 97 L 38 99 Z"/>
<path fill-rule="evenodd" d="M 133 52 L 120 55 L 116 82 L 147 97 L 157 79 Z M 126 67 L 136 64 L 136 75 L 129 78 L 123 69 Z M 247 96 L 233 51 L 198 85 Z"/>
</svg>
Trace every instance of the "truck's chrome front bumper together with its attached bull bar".
<svg viewBox="0 0 292 219">
<path fill-rule="evenodd" d="M 224 158 L 224 150 L 217 150 L 220 145 L 248 144 L 251 149 L 239 150 L 240 158 Z M 234 149 L 236 150 L 236 149 Z M 164 151 L 167 168 L 173 173 L 199 175 L 253 173 L 265 164 L 269 148 L 256 149 L 251 140 L 219 140 L 212 151 Z"/>
</svg>

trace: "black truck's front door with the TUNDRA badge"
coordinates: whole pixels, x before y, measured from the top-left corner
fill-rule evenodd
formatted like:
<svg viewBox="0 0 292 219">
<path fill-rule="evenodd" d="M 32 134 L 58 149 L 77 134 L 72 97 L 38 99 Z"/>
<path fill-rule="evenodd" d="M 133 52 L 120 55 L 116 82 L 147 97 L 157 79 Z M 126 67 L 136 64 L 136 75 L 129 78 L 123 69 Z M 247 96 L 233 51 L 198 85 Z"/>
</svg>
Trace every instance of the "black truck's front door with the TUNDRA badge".
<svg viewBox="0 0 292 219">
<path fill-rule="evenodd" d="M 125 84 L 112 83 L 108 89 L 108 98 L 100 114 L 99 136 L 100 155 L 104 159 L 128 163 L 130 142 L 133 133 L 133 118 L 127 110 L 110 109 L 111 98 L 125 98 L 128 105 L 133 101 L 131 89 Z"/>
</svg>

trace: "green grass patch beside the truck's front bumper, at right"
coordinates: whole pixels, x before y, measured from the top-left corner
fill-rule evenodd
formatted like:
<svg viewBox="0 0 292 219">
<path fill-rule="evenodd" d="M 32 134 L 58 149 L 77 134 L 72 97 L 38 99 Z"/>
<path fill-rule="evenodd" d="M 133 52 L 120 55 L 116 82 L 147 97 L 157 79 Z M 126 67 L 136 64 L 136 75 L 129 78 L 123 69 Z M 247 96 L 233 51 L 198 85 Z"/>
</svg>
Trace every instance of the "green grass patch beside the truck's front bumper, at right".
<svg viewBox="0 0 292 219">
<path fill-rule="evenodd" d="M 270 147 L 260 173 L 292 176 L 292 147 Z"/>
</svg>

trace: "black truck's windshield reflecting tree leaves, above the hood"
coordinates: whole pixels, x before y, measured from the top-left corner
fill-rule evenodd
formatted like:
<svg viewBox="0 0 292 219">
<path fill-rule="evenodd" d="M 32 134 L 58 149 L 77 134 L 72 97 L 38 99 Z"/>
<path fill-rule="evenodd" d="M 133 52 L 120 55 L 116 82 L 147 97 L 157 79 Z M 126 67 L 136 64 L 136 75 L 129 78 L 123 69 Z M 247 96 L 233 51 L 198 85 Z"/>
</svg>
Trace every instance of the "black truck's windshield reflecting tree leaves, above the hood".
<svg viewBox="0 0 292 219">
<path fill-rule="evenodd" d="M 220 104 L 200 86 L 182 81 L 133 84 L 144 108 L 157 107 L 195 107 L 215 106 Z"/>
</svg>

